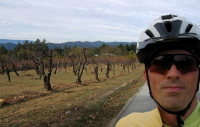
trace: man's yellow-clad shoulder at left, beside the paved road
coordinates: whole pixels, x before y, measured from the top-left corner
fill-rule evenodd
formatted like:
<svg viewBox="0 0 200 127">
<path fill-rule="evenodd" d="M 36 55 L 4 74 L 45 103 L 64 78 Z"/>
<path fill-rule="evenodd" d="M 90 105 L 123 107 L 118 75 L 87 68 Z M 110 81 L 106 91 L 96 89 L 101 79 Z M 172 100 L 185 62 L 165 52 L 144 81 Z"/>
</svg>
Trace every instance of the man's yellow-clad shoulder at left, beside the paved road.
<svg viewBox="0 0 200 127">
<path fill-rule="evenodd" d="M 158 109 L 144 113 L 131 113 L 120 119 L 116 127 L 156 127 L 162 126 Z"/>
</svg>

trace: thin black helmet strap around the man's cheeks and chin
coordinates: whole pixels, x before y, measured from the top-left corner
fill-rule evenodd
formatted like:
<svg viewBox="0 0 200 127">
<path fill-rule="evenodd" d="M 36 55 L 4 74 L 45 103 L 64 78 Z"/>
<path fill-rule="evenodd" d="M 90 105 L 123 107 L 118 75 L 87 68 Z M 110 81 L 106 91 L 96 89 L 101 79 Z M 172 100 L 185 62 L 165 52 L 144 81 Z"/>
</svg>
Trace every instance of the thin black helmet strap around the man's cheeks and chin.
<svg viewBox="0 0 200 127">
<path fill-rule="evenodd" d="M 199 90 L 199 81 L 200 81 L 200 69 L 199 69 L 199 76 L 198 76 L 198 81 L 197 81 L 197 88 L 196 88 L 196 92 L 192 98 L 192 100 L 190 101 L 190 103 L 187 105 L 187 107 L 181 111 L 177 111 L 177 112 L 173 112 L 173 111 L 169 111 L 167 109 L 165 109 L 163 106 L 161 106 L 156 99 L 153 97 L 152 91 L 151 91 L 151 86 L 150 86 L 150 80 L 149 80 L 149 76 L 148 76 L 148 67 L 145 65 L 145 73 L 146 73 L 146 77 L 147 77 L 147 85 L 149 88 L 149 94 L 151 96 L 151 98 L 159 105 L 159 107 L 161 107 L 165 112 L 169 113 L 169 114 L 176 114 L 176 120 L 178 123 L 179 127 L 182 127 L 184 125 L 184 121 L 181 119 L 181 116 L 184 116 L 186 114 L 186 112 L 189 110 L 189 108 L 191 107 L 191 104 L 196 96 L 196 92 Z"/>
</svg>

